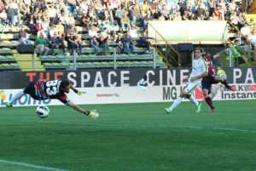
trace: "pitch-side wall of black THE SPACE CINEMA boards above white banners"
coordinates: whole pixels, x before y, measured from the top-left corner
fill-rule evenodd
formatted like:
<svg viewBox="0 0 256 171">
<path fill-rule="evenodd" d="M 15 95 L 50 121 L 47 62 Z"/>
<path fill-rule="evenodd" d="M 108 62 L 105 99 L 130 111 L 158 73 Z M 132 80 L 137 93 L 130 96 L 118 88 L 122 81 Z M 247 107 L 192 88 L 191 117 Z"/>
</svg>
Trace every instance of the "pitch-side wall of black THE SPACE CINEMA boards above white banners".
<svg viewBox="0 0 256 171">
<path fill-rule="evenodd" d="M 254 100 L 256 99 L 256 68 L 226 69 L 228 82 L 236 85 L 237 92 L 227 89 L 219 91 L 215 100 Z M 148 88 L 138 88 L 137 82 L 148 75 Z M 177 98 L 182 80 L 189 76 L 189 69 L 130 69 L 130 70 L 86 70 L 49 72 L 0 72 L 0 106 L 6 104 L 13 95 L 28 82 L 38 79 L 66 78 L 83 93 L 81 96 L 70 93 L 68 98 L 77 104 L 143 103 L 166 102 Z M 202 100 L 201 89 L 195 96 Z M 57 100 L 32 100 L 29 95 L 22 97 L 15 105 L 61 105 Z"/>
</svg>

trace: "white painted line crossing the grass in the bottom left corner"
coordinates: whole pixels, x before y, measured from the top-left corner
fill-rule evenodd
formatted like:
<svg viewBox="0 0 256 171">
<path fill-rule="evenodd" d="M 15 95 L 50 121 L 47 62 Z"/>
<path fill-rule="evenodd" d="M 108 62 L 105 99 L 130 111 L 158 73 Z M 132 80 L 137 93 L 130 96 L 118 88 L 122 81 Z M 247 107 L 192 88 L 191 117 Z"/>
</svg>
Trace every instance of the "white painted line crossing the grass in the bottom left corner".
<svg viewBox="0 0 256 171">
<path fill-rule="evenodd" d="M 0 159 L 0 162 L 6 163 L 6 164 L 11 164 L 11 165 L 16 165 L 16 166 L 23 166 L 23 167 L 26 167 L 26 168 L 38 168 L 38 169 L 41 169 L 41 170 L 68 171 L 68 170 L 66 170 L 66 169 L 51 168 L 51 167 L 47 167 L 47 166 L 29 164 L 29 163 L 25 163 L 25 162 L 14 162 L 14 161 L 1 160 L 1 159 Z"/>
</svg>

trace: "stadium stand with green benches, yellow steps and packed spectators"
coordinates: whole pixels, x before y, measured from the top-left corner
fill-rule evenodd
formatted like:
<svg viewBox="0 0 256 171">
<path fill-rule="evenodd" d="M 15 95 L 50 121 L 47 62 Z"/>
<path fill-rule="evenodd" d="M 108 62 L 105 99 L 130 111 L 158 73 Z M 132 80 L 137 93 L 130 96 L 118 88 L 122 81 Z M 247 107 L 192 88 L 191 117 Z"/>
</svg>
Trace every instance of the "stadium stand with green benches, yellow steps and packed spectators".
<svg viewBox="0 0 256 171">
<path fill-rule="evenodd" d="M 245 40 L 255 56 L 253 29 L 239 1 L 87 1 L 0 0 L 0 68 L 26 71 L 78 68 L 153 66 L 147 37 L 148 20 L 229 20 L 233 43 Z M 20 43 L 34 53 L 20 54 Z M 241 45 L 241 44 L 239 44 Z M 242 44 L 243 45 L 243 44 Z M 164 67 L 155 54 L 156 67 Z M 35 60 L 32 66 L 32 59 Z M 253 59 L 255 60 L 255 59 Z"/>
</svg>

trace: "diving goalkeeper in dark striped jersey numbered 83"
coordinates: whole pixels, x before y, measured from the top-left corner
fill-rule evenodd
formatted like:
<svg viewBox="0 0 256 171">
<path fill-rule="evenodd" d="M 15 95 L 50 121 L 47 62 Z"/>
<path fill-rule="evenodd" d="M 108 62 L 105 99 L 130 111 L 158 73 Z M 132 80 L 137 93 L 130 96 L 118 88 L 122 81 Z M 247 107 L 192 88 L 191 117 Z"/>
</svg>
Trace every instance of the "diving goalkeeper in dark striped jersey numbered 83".
<svg viewBox="0 0 256 171">
<path fill-rule="evenodd" d="M 92 118 L 99 116 L 96 111 L 84 110 L 79 105 L 75 105 L 71 100 L 67 99 L 67 94 L 70 89 L 72 89 L 74 93 L 81 95 L 81 92 L 79 92 L 77 88 L 74 88 L 72 83 L 67 80 L 52 80 L 48 82 L 40 80 L 38 82 L 31 82 L 28 83 L 26 88 L 15 94 L 6 106 L 12 107 L 15 100 L 19 100 L 23 95 L 29 94 L 34 100 L 56 99 L 86 116 Z"/>
</svg>

